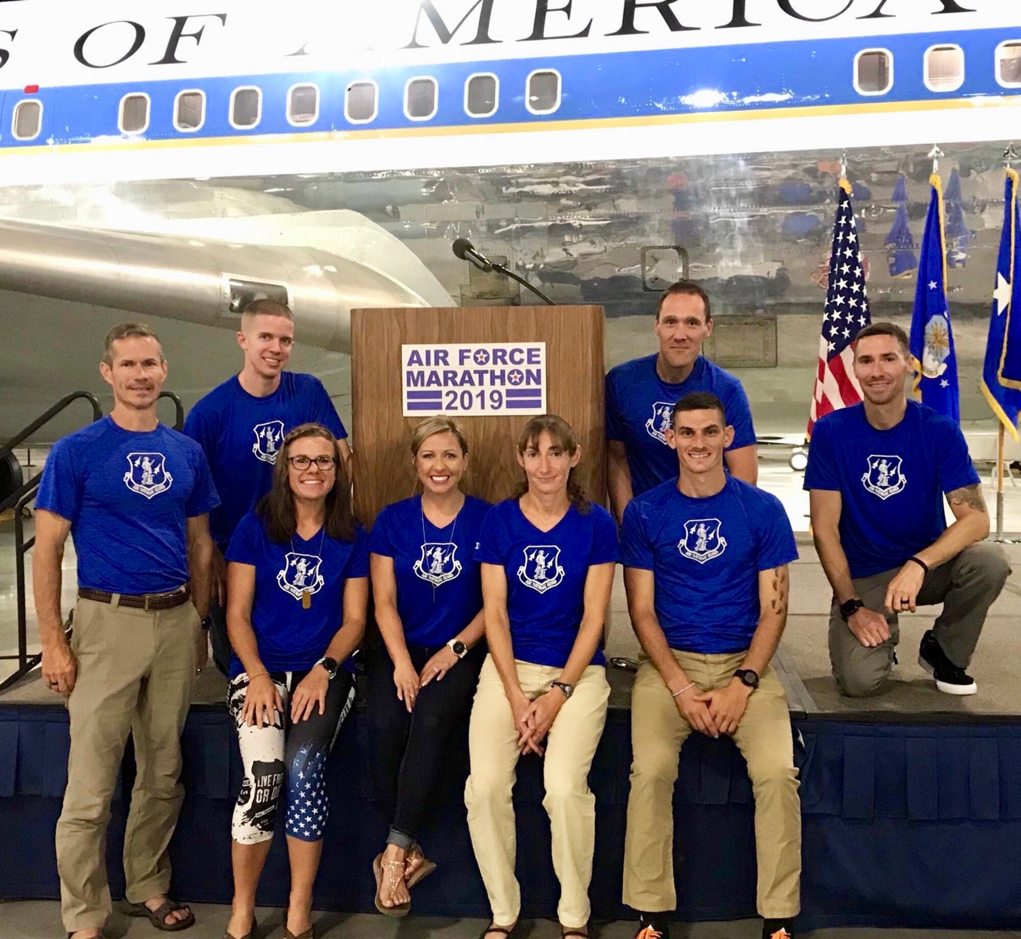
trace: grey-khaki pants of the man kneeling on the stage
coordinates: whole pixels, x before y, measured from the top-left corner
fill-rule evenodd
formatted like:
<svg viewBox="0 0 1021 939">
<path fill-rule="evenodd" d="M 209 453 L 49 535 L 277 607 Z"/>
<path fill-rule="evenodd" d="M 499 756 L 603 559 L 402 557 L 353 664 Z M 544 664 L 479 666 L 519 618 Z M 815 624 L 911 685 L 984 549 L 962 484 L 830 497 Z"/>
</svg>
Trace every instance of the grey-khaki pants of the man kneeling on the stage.
<svg viewBox="0 0 1021 939">
<path fill-rule="evenodd" d="M 883 613 L 890 628 L 890 638 L 877 646 L 863 646 L 840 615 L 840 601 L 834 596 L 830 607 L 830 664 L 837 687 L 850 697 L 867 697 L 882 691 L 893 665 L 893 650 L 901 641 L 897 614 L 884 603 L 886 588 L 900 567 L 853 583 L 862 602 L 871 610 Z M 969 545 L 946 563 L 925 575 L 918 592 L 918 605 L 942 603 L 942 612 L 932 626 L 932 634 L 946 657 L 967 669 L 985 625 L 985 614 L 1007 583 L 1011 565 L 1007 553 L 998 544 L 980 541 Z"/>
</svg>

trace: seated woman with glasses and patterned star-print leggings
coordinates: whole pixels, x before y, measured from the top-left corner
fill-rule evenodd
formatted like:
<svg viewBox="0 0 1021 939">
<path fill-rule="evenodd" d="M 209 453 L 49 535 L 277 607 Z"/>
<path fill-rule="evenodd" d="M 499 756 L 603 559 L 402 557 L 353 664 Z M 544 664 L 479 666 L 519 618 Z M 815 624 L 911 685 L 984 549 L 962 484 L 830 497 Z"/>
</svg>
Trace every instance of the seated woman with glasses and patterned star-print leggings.
<svg viewBox="0 0 1021 939">
<path fill-rule="evenodd" d="M 287 435 L 273 489 L 239 523 L 227 559 L 228 702 L 245 775 L 231 829 L 234 907 L 225 939 L 254 931 L 255 889 L 281 799 L 291 862 L 284 935 L 311 939 L 326 760 L 354 700 L 340 663 L 361 641 L 369 601 L 368 536 L 351 514 L 344 461 L 325 427 L 303 424 Z"/>
</svg>

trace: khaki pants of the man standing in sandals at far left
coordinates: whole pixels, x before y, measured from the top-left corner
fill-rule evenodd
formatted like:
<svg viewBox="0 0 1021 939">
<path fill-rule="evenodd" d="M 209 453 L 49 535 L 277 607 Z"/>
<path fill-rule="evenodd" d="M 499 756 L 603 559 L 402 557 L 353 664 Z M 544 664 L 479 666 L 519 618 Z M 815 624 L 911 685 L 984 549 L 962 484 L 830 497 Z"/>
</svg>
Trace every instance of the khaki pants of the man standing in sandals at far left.
<svg viewBox="0 0 1021 939">
<path fill-rule="evenodd" d="M 147 612 L 79 599 L 71 649 L 78 681 L 67 699 L 70 756 L 57 822 L 64 929 L 102 927 L 110 915 L 106 825 L 128 734 L 138 773 L 125 832 L 128 900 L 171 886 L 166 856 L 184 798 L 181 731 L 195 678 L 198 614 L 191 603 Z"/>
</svg>

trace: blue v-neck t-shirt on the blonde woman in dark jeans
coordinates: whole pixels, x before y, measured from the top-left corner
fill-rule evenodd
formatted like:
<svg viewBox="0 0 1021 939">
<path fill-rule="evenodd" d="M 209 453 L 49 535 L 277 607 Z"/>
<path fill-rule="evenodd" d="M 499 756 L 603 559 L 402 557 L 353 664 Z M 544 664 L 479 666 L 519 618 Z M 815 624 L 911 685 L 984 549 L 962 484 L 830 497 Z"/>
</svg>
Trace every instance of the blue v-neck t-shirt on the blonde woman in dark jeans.
<svg viewBox="0 0 1021 939">
<path fill-rule="evenodd" d="M 397 614 L 405 641 L 449 642 L 482 609 L 482 576 L 475 548 L 490 504 L 465 498 L 457 517 L 436 528 L 422 511 L 422 496 L 394 502 L 373 526 L 369 550 L 393 558 Z"/>
</svg>

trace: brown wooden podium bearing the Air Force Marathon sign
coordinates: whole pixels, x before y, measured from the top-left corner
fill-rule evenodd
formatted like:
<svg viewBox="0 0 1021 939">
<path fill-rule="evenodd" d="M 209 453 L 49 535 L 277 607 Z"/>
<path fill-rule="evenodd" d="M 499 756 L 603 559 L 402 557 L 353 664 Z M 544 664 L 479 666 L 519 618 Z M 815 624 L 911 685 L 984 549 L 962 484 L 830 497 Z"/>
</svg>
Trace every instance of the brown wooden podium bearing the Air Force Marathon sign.
<svg viewBox="0 0 1021 939">
<path fill-rule="evenodd" d="M 498 502 L 524 478 L 529 414 L 560 414 L 582 448 L 578 481 L 604 503 L 602 307 L 398 307 L 351 311 L 354 507 L 371 525 L 417 481 L 411 429 L 443 414 L 469 438 L 465 488 Z"/>
</svg>

